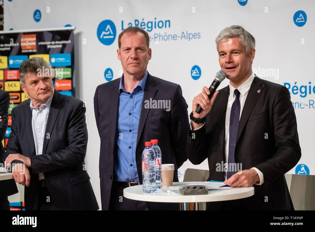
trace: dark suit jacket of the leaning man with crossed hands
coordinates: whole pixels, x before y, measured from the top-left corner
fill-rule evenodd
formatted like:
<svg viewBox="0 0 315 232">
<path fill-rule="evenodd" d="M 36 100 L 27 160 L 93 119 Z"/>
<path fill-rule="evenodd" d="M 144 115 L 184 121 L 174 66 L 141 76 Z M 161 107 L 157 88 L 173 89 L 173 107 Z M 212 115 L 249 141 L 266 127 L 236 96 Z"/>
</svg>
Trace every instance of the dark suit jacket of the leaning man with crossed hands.
<svg viewBox="0 0 315 232">
<path fill-rule="evenodd" d="M 35 151 L 30 102 L 31 99 L 27 99 L 12 110 L 12 132 L 3 155 L 6 159 L 9 154 L 20 153 L 31 159 L 31 180 L 24 194 L 25 209 L 37 210 L 38 173 L 43 172 L 55 209 L 97 210 L 84 164 L 88 131 L 83 102 L 54 91 L 41 155 L 36 155 Z"/>
</svg>

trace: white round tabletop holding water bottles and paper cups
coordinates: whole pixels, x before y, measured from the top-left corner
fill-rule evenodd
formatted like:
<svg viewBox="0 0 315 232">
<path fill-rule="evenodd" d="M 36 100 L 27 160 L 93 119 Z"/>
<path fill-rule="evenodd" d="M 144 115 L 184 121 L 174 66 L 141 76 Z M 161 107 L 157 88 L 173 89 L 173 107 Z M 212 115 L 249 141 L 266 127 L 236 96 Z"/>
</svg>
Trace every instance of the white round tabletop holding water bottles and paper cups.
<svg viewBox="0 0 315 232">
<path fill-rule="evenodd" d="M 173 186 L 180 186 L 192 182 L 173 182 Z M 196 182 L 196 185 L 200 182 Z M 143 193 L 142 185 L 127 187 L 123 190 L 123 196 L 133 200 L 153 201 L 153 202 L 209 202 L 225 201 L 246 198 L 254 195 L 254 187 L 238 187 L 232 189 L 212 189 L 208 194 L 200 195 L 181 195 L 176 193 Z"/>
</svg>

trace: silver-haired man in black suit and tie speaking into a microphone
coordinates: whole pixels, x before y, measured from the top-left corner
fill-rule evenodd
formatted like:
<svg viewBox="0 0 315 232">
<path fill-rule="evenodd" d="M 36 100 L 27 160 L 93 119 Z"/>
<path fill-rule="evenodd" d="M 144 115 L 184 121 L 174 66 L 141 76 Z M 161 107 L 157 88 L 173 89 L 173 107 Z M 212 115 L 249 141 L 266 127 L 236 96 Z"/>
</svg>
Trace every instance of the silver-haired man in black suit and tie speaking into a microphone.
<svg viewBox="0 0 315 232">
<path fill-rule="evenodd" d="M 284 174 L 301 158 L 301 148 L 289 91 L 252 72 L 255 39 L 243 27 L 225 28 L 216 44 L 230 83 L 210 100 L 206 86 L 193 99 L 188 159 L 200 164 L 208 158 L 208 180 L 254 186 L 255 195 L 208 207 L 293 210 Z M 198 104 L 200 114 L 195 112 Z"/>
</svg>

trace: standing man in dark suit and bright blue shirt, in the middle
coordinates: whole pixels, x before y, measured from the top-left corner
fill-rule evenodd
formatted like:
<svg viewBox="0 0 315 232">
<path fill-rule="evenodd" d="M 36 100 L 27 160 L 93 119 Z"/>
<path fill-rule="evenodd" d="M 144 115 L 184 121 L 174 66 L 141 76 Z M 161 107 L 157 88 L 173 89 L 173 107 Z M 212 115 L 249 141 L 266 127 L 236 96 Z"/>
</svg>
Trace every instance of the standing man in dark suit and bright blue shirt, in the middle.
<svg viewBox="0 0 315 232">
<path fill-rule="evenodd" d="M 144 143 L 158 140 L 162 164 L 177 169 L 187 160 L 187 104 L 179 85 L 151 76 L 148 34 L 128 27 L 118 37 L 117 57 L 123 76 L 96 88 L 94 110 L 100 134 L 102 210 L 178 209 L 178 204 L 154 204 L 123 197 L 123 189 L 142 184 Z"/>
</svg>

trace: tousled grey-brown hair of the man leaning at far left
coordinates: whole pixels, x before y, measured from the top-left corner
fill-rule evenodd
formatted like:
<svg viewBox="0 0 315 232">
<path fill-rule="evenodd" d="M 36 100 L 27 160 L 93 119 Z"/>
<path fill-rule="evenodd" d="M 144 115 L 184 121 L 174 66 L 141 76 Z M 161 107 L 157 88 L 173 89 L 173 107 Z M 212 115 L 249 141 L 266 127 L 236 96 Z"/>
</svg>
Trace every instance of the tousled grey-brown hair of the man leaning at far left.
<svg viewBox="0 0 315 232">
<path fill-rule="evenodd" d="M 51 69 L 51 65 L 49 62 L 45 61 L 41 57 L 33 57 L 31 59 L 25 60 L 21 63 L 20 69 L 19 69 L 19 77 L 20 77 L 20 85 L 25 86 L 25 75 L 28 73 L 37 74 L 37 69 L 41 69 L 44 67 L 44 70 L 47 70 L 46 68 L 49 68 L 49 72 Z"/>
</svg>

